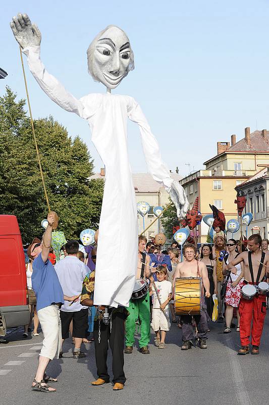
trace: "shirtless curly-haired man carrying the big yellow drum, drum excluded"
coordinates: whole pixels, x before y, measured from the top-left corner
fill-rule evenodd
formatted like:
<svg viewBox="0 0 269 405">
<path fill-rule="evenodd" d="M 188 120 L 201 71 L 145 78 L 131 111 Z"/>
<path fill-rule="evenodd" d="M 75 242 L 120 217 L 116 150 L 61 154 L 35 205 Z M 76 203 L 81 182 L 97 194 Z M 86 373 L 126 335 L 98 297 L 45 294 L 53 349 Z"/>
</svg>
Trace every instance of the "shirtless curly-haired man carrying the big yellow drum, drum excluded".
<svg viewBox="0 0 269 405">
<path fill-rule="evenodd" d="M 207 318 L 206 318 L 206 305 L 203 298 L 203 288 L 205 288 L 205 297 L 209 298 L 209 279 L 207 275 L 207 269 L 203 262 L 198 262 L 195 260 L 196 248 L 194 245 L 186 244 L 183 247 L 183 255 L 185 261 L 177 265 L 174 274 L 174 289 L 176 278 L 182 277 L 201 277 L 202 278 L 202 313 L 201 315 L 181 315 L 181 325 L 182 325 L 182 346 L 181 350 L 191 349 L 193 346 L 193 327 L 192 327 L 192 316 L 195 319 L 197 326 L 197 337 L 198 344 L 201 349 L 206 349 L 206 339 L 207 339 Z"/>
</svg>

